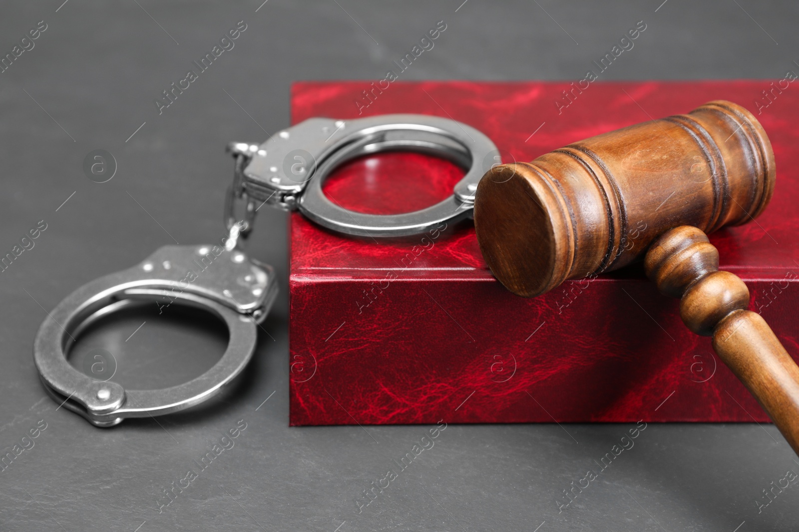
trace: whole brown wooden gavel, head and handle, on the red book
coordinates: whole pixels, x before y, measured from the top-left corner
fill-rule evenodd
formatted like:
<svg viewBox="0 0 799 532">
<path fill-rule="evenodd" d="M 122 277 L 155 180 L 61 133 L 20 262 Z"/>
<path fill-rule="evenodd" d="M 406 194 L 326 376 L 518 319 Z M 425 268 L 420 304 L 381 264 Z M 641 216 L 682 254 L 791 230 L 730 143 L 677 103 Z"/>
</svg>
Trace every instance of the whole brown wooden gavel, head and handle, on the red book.
<svg viewBox="0 0 799 532">
<path fill-rule="evenodd" d="M 706 233 L 749 222 L 769 203 L 774 154 L 745 108 L 716 100 L 570 144 L 483 175 L 475 199 L 480 250 L 515 294 L 640 258 L 680 316 L 713 337 L 721 361 L 749 388 L 799 454 L 799 368 L 749 290 L 718 270 Z"/>
</svg>

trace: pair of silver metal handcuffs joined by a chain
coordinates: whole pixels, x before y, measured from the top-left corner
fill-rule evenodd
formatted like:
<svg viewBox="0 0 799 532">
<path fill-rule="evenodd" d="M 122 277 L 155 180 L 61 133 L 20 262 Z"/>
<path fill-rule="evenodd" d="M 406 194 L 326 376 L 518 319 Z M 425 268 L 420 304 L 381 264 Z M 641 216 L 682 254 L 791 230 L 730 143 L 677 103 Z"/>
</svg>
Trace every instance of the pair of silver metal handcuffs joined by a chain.
<svg viewBox="0 0 799 532">
<path fill-rule="evenodd" d="M 340 164 L 397 150 L 440 156 L 467 171 L 447 199 L 400 215 L 348 211 L 324 195 L 324 179 Z M 320 226 L 343 234 L 420 234 L 439 223 L 469 217 L 479 179 L 501 162 L 495 145 L 482 132 L 455 120 L 425 115 L 310 118 L 260 146 L 231 143 L 228 151 L 235 164 L 233 185 L 225 199 L 229 233 L 220 245 L 163 246 L 137 266 L 81 286 L 48 313 L 39 327 L 34 360 L 46 391 L 98 427 L 199 404 L 217 395 L 248 364 L 255 351 L 256 328 L 277 293 L 272 267 L 249 258 L 241 248 L 264 203 L 299 210 Z M 239 200 L 244 203 L 241 217 L 236 215 Z M 177 301 L 213 313 L 229 330 L 225 353 L 201 376 L 160 390 L 125 390 L 70 365 L 66 358 L 70 340 L 101 317 L 139 301 Z"/>
</svg>

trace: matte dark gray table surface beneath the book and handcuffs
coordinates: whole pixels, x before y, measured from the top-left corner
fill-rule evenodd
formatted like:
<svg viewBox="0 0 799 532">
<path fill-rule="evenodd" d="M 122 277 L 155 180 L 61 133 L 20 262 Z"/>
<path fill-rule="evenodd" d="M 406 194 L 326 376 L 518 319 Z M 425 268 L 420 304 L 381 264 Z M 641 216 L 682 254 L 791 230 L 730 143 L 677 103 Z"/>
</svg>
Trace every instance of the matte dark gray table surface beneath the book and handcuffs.
<svg viewBox="0 0 799 532">
<path fill-rule="evenodd" d="M 757 424 L 650 424 L 562 511 L 562 491 L 629 425 L 450 425 L 359 514 L 356 500 L 427 427 L 288 428 L 280 211 L 260 211 L 250 244 L 280 275 L 269 334 L 247 376 L 208 408 L 94 428 L 45 396 L 31 345 L 46 309 L 74 288 L 173 239 L 221 234 L 231 171 L 222 150 L 288 125 L 294 80 L 380 79 L 439 20 L 447 32 L 404 79 L 576 80 L 644 20 L 646 33 L 605 79 L 761 78 L 765 87 L 799 68 L 799 4 L 62 1 L 0 6 L 0 53 L 47 25 L 0 73 L 0 250 L 47 223 L 0 274 L 0 447 L 46 424 L 0 472 L 0 530 L 796 529 L 793 483 L 758 511 L 762 490 L 799 463 L 773 426 Z M 153 100 L 240 20 L 235 48 L 159 115 Z M 97 148 L 117 160 L 107 183 L 82 171 Z M 121 384 L 157 388 L 199 375 L 224 344 L 203 317 L 147 307 L 87 333 L 75 356 L 113 350 Z M 163 488 L 239 420 L 235 446 L 159 512 Z"/>
</svg>

